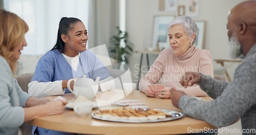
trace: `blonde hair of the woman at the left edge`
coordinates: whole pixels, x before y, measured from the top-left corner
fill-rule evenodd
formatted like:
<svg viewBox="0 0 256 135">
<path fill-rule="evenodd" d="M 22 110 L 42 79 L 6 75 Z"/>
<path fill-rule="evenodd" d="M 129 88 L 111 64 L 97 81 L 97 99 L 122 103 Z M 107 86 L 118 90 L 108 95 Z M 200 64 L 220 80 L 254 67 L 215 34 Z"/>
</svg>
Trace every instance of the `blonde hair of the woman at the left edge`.
<svg viewBox="0 0 256 135">
<path fill-rule="evenodd" d="M 28 32 L 26 22 L 16 14 L 0 9 L 0 55 L 9 63 L 12 73 L 17 61 L 14 59 L 14 48 L 20 44 Z"/>
</svg>

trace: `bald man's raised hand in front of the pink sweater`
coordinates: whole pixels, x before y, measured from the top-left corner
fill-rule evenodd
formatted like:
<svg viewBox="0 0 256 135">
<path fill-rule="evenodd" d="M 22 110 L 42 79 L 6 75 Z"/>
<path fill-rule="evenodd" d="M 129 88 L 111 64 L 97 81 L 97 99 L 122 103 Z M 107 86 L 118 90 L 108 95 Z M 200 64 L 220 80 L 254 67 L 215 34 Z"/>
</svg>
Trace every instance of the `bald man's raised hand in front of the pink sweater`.
<svg viewBox="0 0 256 135">
<path fill-rule="evenodd" d="M 181 77 L 180 84 L 186 88 L 187 86 L 198 84 L 201 78 L 202 78 L 202 75 L 200 73 L 186 72 L 185 75 Z"/>
</svg>

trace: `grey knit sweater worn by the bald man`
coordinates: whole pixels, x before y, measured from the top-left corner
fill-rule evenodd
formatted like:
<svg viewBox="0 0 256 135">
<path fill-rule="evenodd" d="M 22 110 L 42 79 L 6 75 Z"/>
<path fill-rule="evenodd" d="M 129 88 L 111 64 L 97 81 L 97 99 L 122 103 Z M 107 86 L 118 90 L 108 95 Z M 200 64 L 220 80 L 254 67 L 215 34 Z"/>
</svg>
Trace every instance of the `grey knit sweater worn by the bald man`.
<svg viewBox="0 0 256 135">
<path fill-rule="evenodd" d="M 243 129 L 255 131 L 256 44 L 236 69 L 231 83 L 202 75 L 199 85 L 214 100 L 197 101 L 187 95 L 182 96 L 179 108 L 187 116 L 204 120 L 217 127 L 230 125 L 240 117 Z"/>
</svg>

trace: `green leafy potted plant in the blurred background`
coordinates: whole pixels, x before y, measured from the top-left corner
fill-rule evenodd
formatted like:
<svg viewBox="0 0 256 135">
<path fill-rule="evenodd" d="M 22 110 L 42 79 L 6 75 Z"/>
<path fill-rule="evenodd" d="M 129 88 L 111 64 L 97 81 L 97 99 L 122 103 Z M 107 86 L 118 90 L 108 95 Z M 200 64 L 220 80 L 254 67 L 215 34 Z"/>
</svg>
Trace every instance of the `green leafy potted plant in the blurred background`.
<svg viewBox="0 0 256 135">
<path fill-rule="evenodd" d="M 129 63 L 127 55 L 133 53 L 133 43 L 127 41 L 127 37 L 128 33 L 121 31 L 119 27 L 117 27 L 117 35 L 110 38 L 110 52 L 114 54 L 114 59 L 116 59 L 118 63 Z M 120 44 L 121 41 L 123 41 L 124 44 Z"/>
</svg>

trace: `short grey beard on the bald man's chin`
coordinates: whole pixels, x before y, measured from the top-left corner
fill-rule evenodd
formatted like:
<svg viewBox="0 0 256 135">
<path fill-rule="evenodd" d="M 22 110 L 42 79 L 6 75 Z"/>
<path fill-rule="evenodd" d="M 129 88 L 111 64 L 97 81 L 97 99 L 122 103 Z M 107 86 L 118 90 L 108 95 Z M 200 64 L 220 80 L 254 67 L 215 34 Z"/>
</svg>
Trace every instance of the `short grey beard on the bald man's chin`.
<svg viewBox="0 0 256 135">
<path fill-rule="evenodd" d="M 234 35 L 235 33 L 233 33 L 230 41 L 228 42 L 228 45 L 229 45 L 228 56 L 231 59 L 237 59 L 242 54 L 241 44 L 238 42 L 237 37 Z"/>
</svg>

